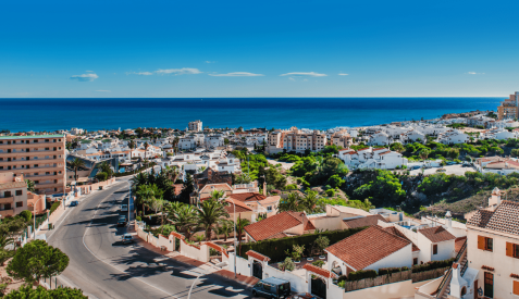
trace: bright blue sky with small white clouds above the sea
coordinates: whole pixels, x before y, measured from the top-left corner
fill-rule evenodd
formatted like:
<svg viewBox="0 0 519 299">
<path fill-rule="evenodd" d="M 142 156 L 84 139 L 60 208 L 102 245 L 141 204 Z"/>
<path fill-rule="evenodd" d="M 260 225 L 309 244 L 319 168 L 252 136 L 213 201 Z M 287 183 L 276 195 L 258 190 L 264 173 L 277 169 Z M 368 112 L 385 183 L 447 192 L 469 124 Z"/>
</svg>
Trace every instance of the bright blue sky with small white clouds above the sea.
<svg viewBox="0 0 519 299">
<path fill-rule="evenodd" d="M 0 97 L 505 97 L 519 90 L 518 9 L 3 1 Z"/>
</svg>

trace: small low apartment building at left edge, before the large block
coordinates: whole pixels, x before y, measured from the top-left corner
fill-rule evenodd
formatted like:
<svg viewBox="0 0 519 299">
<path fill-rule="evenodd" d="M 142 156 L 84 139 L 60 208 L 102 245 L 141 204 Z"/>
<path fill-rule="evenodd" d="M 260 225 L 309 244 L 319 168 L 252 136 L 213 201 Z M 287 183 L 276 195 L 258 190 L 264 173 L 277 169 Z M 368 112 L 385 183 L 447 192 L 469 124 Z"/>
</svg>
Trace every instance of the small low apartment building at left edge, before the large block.
<svg viewBox="0 0 519 299">
<path fill-rule="evenodd" d="M 23 175 L 0 173 L 0 215 L 14 216 L 27 210 L 27 184 Z"/>
</svg>

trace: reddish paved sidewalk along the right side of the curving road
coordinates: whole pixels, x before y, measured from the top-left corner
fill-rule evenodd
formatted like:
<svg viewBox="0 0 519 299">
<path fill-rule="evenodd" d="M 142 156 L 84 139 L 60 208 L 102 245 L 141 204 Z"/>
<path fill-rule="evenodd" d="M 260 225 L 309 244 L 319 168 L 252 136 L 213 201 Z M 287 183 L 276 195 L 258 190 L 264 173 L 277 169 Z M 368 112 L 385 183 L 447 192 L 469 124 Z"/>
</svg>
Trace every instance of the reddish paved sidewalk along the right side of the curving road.
<svg viewBox="0 0 519 299">
<path fill-rule="evenodd" d="M 134 235 L 134 234 L 132 234 Z M 135 235 L 135 237 L 138 239 L 138 245 L 141 245 L 144 248 L 148 249 L 148 250 L 151 250 L 158 254 L 162 254 L 169 259 L 172 259 L 174 261 L 177 261 L 180 263 L 183 263 L 183 264 L 187 264 L 187 265 L 191 265 L 194 267 L 198 267 L 200 270 L 203 270 L 207 274 L 217 274 L 225 279 L 228 279 L 228 281 L 234 281 L 236 283 L 239 283 L 244 286 L 247 286 L 247 287 L 252 287 L 254 285 L 256 285 L 256 283 L 258 283 L 260 279 L 256 278 L 256 277 L 249 277 L 249 276 L 244 276 L 244 275 L 239 275 L 237 274 L 236 278 L 234 278 L 234 272 L 232 271 L 228 271 L 228 270 L 225 270 L 225 269 L 220 269 L 218 266 L 215 266 L 214 264 L 212 264 L 211 262 L 200 262 L 198 260 L 195 260 L 195 259 L 191 259 L 191 258 L 187 258 L 185 256 L 182 256 L 181 253 L 178 253 L 177 251 L 161 251 L 159 248 L 152 246 L 151 244 L 148 244 L 144 240 L 141 240 L 139 237 L 137 237 L 137 235 Z"/>
</svg>

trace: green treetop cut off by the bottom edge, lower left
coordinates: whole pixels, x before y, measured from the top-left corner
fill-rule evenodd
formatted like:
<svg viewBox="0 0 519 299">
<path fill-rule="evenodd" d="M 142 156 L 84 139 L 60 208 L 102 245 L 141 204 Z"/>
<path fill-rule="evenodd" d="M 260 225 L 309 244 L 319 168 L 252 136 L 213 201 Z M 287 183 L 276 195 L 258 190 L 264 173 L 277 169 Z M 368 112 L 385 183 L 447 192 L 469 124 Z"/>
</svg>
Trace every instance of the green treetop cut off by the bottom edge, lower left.
<svg viewBox="0 0 519 299">
<path fill-rule="evenodd" d="M 22 285 L 18 289 L 11 290 L 10 294 L 5 295 L 5 299 L 28 299 L 28 298 L 38 298 L 38 299 L 88 299 L 87 296 L 83 295 L 83 291 L 78 288 L 69 288 L 69 287 L 58 287 L 55 289 L 46 289 L 42 286 L 33 288 L 30 285 Z"/>
</svg>

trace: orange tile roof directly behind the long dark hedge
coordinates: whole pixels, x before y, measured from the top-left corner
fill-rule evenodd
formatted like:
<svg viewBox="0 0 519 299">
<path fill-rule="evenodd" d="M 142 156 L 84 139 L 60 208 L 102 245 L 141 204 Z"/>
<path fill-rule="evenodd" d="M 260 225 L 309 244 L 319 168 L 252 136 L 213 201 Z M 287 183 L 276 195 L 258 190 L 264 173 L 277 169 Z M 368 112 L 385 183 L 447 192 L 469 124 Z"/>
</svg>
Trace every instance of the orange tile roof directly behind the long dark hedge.
<svg viewBox="0 0 519 299">
<path fill-rule="evenodd" d="M 305 213 L 283 212 L 245 226 L 245 232 L 247 232 L 252 239 L 259 241 L 270 239 L 300 224 L 302 224 L 305 231 L 316 229 Z"/>
</svg>

